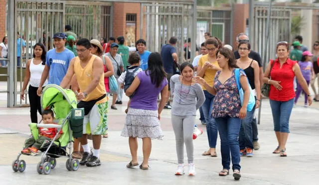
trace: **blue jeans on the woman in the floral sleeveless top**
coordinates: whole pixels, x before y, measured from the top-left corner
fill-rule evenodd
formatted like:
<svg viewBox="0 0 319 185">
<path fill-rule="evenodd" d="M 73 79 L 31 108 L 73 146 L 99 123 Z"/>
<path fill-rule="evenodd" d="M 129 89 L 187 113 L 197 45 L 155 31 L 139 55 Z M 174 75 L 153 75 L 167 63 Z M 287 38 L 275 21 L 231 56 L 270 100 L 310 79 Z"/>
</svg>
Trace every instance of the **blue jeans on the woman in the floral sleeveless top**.
<svg viewBox="0 0 319 185">
<path fill-rule="evenodd" d="M 239 118 L 215 118 L 220 136 L 221 163 L 223 169 L 230 169 L 230 156 L 233 170 L 240 170 L 238 134 L 241 120 Z"/>
</svg>

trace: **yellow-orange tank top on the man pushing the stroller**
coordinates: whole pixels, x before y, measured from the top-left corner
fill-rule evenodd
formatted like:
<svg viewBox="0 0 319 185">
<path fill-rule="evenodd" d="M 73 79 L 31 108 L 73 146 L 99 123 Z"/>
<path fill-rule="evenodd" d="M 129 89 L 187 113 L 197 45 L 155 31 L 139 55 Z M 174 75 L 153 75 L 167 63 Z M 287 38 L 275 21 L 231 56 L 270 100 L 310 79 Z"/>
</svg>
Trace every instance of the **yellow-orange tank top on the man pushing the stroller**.
<svg viewBox="0 0 319 185">
<path fill-rule="evenodd" d="M 98 56 L 92 55 L 92 57 L 90 58 L 89 62 L 86 64 L 85 67 L 81 66 L 80 58 L 78 56 L 75 57 L 74 73 L 75 73 L 76 79 L 78 81 L 81 92 L 83 92 L 85 89 L 87 89 L 87 87 L 93 81 L 93 74 L 92 74 L 93 61 L 96 57 L 98 57 Z M 101 70 L 103 70 L 103 68 L 101 68 Z M 83 101 L 88 102 L 91 100 L 96 100 L 99 97 L 103 96 L 104 94 L 106 94 L 106 91 L 105 91 L 105 86 L 104 86 L 104 73 L 102 72 L 98 85 L 91 93 L 88 94 L 88 96 L 86 98 L 83 99 Z M 102 100 L 98 101 L 96 104 L 104 103 L 107 101 L 108 101 L 108 98 L 106 96 Z"/>
</svg>

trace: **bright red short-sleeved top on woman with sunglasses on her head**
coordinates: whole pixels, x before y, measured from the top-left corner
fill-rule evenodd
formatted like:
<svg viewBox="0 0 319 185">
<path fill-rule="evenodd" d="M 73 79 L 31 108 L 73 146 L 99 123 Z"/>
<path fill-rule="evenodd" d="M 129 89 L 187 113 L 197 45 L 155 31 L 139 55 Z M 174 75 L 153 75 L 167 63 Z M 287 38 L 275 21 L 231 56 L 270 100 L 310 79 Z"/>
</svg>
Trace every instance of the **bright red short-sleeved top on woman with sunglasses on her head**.
<svg viewBox="0 0 319 185">
<path fill-rule="evenodd" d="M 295 98 L 294 78 L 295 72 L 293 67 L 297 61 L 287 59 L 280 68 L 279 60 L 276 59 L 273 68 L 270 72 L 272 80 L 281 81 L 282 90 L 277 90 L 273 85 L 270 85 L 269 99 L 274 101 L 288 101 Z"/>
</svg>

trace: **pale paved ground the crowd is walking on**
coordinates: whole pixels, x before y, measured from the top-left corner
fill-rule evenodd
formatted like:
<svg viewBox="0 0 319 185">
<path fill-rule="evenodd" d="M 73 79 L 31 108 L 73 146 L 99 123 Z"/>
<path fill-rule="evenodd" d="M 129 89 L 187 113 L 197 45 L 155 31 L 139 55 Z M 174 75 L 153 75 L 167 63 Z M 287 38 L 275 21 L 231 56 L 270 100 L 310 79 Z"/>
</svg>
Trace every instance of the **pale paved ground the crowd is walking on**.
<svg viewBox="0 0 319 185">
<path fill-rule="evenodd" d="M 3 99 L 0 96 L 0 99 Z M 112 97 L 110 98 L 112 100 Z M 22 156 L 26 162 L 23 173 L 13 173 L 11 163 L 15 159 L 24 140 L 28 137 L 29 108 L 0 108 L 0 185 L 15 184 L 56 184 L 69 185 L 85 183 L 104 185 L 318 185 L 319 181 L 319 109 L 315 106 L 294 108 L 291 117 L 291 134 L 287 143 L 287 158 L 272 154 L 277 147 L 273 132 L 272 115 L 267 99 L 263 100 L 261 125 L 259 125 L 260 150 L 254 151 L 253 158 L 241 158 L 242 178 L 234 182 L 231 175 L 219 177 L 222 169 L 220 157 L 220 141 L 217 141 L 217 158 L 201 156 L 207 150 L 207 135 L 194 140 L 194 163 L 197 175 L 194 177 L 173 175 L 177 159 L 175 153 L 174 133 L 170 122 L 170 111 L 164 110 L 161 116 L 161 128 L 164 139 L 153 140 L 150 170 L 143 171 L 138 167 L 127 169 L 130 162 L 128 139 L 120 136 L 125 122 L 124 105 L 117 106 L 119 110 L 109 110 L 109 138 L 103 139 L 101 148 L 102 166 L 96 168 L 80 167 L 77 172 L 68 172 L 65 168 L 66 158 L 58 158 L 57 166 L 50 175 L 38 175 L 36 164 L 39 157 Z M 301 104 L 302 105 L 302 104 Z M 90 143 L 92 147 L 92 143 Z M 142 142 L 139 140 L 139 161 L 142 162 Z M 185 163 L 187 157 L 185 154 Z M 187 171 L 187 168 L 185 168 Z"/>
</svg>

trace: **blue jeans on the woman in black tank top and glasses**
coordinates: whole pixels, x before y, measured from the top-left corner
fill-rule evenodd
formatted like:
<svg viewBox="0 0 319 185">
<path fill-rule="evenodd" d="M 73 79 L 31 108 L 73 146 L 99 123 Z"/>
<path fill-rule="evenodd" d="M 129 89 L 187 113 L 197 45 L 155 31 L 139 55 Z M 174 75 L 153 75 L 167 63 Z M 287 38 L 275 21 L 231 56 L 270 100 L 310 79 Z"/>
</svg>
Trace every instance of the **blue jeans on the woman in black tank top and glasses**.
<svg viewBox="0 0 319 185">
<path fill-rule="evenodd" d="M 254 113 L 255 108 L 252 111 L 247 111 L 246 118 L 242 120 L 238 139 L 240 150 L 243 150 L 245 148 L 254 149 L 252 129 L 252 120 L 254 117 Z"/>
</svg>

